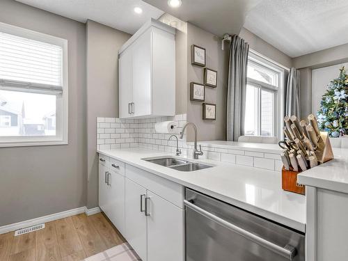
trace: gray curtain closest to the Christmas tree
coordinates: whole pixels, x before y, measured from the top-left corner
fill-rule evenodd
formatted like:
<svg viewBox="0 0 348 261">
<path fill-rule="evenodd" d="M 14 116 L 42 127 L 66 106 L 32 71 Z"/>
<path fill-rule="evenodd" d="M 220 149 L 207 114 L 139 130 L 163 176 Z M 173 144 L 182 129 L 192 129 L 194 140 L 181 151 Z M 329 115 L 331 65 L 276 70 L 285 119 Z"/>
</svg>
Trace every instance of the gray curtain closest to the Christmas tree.
<svg viewBox="0 0 348 261">
<path fill-rule="evenodd" d="M 285 90 L 285 116 L 300 118 L 300 71 L 291 68 Z"/>
</svg>

